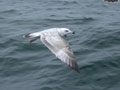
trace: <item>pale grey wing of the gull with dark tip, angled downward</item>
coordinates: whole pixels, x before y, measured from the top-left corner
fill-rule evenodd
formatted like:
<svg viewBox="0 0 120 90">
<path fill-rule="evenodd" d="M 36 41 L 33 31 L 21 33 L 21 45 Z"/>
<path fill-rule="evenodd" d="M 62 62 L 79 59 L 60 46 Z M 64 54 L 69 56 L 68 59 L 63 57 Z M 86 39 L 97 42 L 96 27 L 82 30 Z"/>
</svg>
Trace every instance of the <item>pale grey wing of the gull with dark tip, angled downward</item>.
<svg viewBox="0 0 120 90">
<path fill-rule="evenodd" d="M 41 41 L 57 58 L 79 72 L 78 65 L 69 44 L 59 34 L 41 35 Z"/>
</svg>

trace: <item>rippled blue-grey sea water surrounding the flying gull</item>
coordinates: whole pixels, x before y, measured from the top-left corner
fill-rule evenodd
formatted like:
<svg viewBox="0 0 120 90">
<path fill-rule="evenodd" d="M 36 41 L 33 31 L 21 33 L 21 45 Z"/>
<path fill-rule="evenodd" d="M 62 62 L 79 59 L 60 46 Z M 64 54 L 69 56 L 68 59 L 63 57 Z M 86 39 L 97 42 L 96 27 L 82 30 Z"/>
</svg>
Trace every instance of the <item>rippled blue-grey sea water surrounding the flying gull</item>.
<svg viewBox="0 0 120 90">
<path fill-rule="evenodd" d="M 76 32 L 80 73 L 22 37 L 54 27 Z M 0 90 L 120 90 L 120 2 L 0 0 Z"/>
</svg>

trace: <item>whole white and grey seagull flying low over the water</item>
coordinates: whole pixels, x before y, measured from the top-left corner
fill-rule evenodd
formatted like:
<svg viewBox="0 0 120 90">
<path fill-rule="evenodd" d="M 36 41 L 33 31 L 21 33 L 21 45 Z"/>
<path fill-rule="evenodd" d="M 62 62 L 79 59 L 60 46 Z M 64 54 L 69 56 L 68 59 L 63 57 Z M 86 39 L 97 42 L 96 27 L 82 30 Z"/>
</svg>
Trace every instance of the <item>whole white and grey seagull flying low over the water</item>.
<svg viewBox="0 0 120 90">
<path fill-rule="evenodd" d="M 63 37 L 66 37 L 68 34 L 75 34 L 75 32 L 68 28 L 51 28 L 35 33 L 29 33 L 23 37 L 32 38 L 30 42 L 40 39 L 58 59 L 79 72 L 75 56 L 69 44 L 63 39 Z"/>
</svg>

